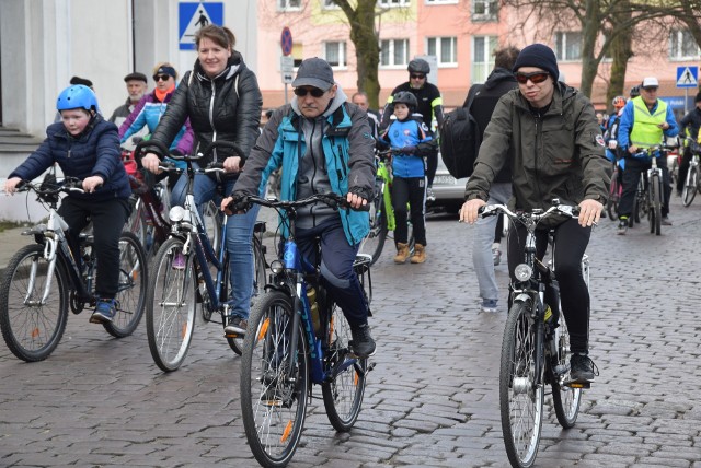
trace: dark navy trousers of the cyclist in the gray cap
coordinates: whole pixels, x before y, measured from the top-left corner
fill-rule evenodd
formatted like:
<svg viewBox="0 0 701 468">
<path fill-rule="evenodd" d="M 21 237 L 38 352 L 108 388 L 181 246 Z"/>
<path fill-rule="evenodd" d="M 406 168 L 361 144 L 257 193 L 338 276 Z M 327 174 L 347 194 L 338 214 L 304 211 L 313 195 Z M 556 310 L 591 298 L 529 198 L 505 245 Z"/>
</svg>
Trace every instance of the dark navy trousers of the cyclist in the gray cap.
<svg viewBox="0 0 701 468">
<path fill-rule="evenodd" d="M 353 269 L 358 245 L 348 244 L 341 218 L 334 218 L 309 229 L 297 230 L 297 246 L 303 258 L 317 265 L 315 238 L 321 242 L 321 279 L 333 301 L 338 304 L 348 324 L 368 321 L 368 304 L 363 286 Z"/>
</svg>

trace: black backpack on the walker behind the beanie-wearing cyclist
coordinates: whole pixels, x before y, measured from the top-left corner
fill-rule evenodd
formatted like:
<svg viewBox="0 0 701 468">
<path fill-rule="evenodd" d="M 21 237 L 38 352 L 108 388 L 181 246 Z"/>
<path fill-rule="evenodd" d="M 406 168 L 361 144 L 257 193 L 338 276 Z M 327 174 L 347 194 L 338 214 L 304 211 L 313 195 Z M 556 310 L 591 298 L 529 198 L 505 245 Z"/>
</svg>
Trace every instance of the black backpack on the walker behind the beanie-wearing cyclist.
<svg viewBox="0 0 701 468">
<path fill-rule="evenodd" d="M 440 126 L 440 156 L 455 178 L 472 175 L 482 143 L 480 126 L 470 113 L 472 101 L 478 94 L 480 91 L 472 93 L 467 106 L 446 114 Z"/>
</svg>

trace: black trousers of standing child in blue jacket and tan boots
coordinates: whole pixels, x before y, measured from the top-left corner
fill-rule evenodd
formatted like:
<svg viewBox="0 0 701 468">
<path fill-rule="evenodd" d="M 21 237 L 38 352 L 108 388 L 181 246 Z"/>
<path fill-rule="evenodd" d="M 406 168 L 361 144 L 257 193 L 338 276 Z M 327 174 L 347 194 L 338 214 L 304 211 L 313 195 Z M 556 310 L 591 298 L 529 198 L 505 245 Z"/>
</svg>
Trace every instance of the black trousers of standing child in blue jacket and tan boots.
<svg viewBox="0 0 701 468">
<path fill-rule="evenodd" d="M 409 203 L 411 213 L 406 210 Z M 406 244 L 409 241 L 407 217 L 411 214 L 412 229 L 416 244 L 426 245 L 426 223 L 424 207 L 426 203 L 426 179 L 424 177 L 394 177 L 392 179 L 392 208 L 394 209 L 394 242 Z"/>
</svg>

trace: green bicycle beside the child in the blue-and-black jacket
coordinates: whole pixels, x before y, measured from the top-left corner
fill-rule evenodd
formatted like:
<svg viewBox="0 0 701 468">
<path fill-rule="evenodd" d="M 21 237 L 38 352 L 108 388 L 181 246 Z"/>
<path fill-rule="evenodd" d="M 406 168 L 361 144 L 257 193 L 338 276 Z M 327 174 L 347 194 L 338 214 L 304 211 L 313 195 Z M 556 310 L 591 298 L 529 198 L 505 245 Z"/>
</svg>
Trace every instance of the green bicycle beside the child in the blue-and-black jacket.
<svg viewBox="0 0 701 468">
<path fill-rule="evenodd" d="M 380 258 L 384 241 L 390 231 L 394 231 L 397 222 L 394 219 L 394 209 L 392 208 L 392 161 L 391 155 L 397 150 L 377 151 L 375 154 L 375 164 L 377 173 L 375 176 L 375 199 L 370 203 L 370 232 L 360 242 L 359 254 L 369 255 L 372 264 Z M 414 231 L 412 230 L 411 220 L 409 223 L 409 254 L 414 255 Z"/>
</svg>

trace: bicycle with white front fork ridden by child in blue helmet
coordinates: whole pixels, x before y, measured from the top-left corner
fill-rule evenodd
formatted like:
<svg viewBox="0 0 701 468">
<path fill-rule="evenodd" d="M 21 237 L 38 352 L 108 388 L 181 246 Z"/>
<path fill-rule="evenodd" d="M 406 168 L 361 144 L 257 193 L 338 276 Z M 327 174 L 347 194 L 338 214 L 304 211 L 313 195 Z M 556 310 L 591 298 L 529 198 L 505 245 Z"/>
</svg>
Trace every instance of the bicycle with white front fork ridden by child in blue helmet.
<svg viewBox="0 0 701 468">
<path fill-rule="evenodd" d="M 8 264 L 0 284 L 0 328 L 16 358 L 36 362 L 48 358 L 60 342 L 69 306 L 73 314 L 95 306 L 97 261 L 92 235 L 81 234 L 80 253 L 71 251 L 68 224 L 57 211 L 59 194 L 82 194 L 82 180 L 66 178 L 62 185 L 23 182 L 18 186 L 18 191 L 28 190 L 48 207 L 48 220 L 22 233 L 34 236 L 35 244 L 20 249 Z M 147 281 L 141 244 L 134 234 L 122 233 L 117 311 L 111 323 L 102 324 L 113 337 L 127 337 L 138 326 Z"/>
</svg>

